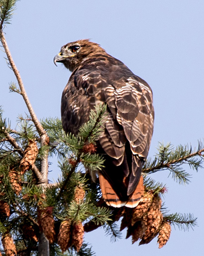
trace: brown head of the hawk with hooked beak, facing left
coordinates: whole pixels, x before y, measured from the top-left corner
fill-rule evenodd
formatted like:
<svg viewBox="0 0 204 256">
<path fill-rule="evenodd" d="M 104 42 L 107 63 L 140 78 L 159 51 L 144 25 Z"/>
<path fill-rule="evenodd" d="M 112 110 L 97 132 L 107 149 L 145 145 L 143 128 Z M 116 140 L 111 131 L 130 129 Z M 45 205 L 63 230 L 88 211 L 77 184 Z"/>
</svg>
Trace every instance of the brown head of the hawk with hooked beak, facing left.
<svg viewBox="0 0 204 256">
<path fill-rule="evenodd" d="M 83 60 L 95 54 L 106 53 L 97 43 L 88 39 L 78 40 L 62 46 L 61 51 L 54 57 L 54 63 L 62 62 L 66 68 L 73 71 Z"/>
</svg>

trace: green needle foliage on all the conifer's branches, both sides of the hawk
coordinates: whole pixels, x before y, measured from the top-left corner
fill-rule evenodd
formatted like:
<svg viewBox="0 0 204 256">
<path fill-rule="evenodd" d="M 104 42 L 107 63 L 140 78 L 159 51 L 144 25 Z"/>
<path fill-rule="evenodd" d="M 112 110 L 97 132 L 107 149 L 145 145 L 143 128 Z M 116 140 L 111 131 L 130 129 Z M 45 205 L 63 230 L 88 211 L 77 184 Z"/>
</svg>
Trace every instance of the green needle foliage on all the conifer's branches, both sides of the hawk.
<svg viewBox="0 0 204 256">
<path fill-rule="evenodd" d="M 10 23 L 16 2 L 17 0 L 0 0 L 1 39 L 2 29 Z M 9 88 L 11 92 L 22 95 L 22 91 L 14 82 L 10 83 Z M 69 220 L 71 224 L 83 222 L 85 231 L 103 226 L 105 233 L 111 235 L 112 241 L 121 238 L 116 222 L 123 213 L 101 202 L 102 195 L 97 180 L 97 172 L 103 168 L 104 159 L 95 153 L 95 141 L 103 132 L 105 121 L 105 104 L 91 110 L 89 121 L 80 127 L 77 136 L 65 134 L 59 118 L 46 118 L 41 120 L 41 124 L 47 132 L 49 142 L 41 145 L 42 134 L 39 136 L 36 124 L 30 116 L 18 116 L 17 128 L 13 130 L 8 120 L 2 117 L 0 108 L 0 235 L 11 233 L 18 253 L 28 249 L 29 255 L 37 255 L 38 242 L 31 235 L 26 236 L 25 231 L 30 228 L 36 237 L 39 237 L 42 228 L 39 227 L 38 219 L 40 211 L 44 211 L 50 218 L 53 216 L 54 230 L 57 234 L 60 223 Z M 36 142 L 38 155 L 34 156 L 35 154 L 30 150 L 26 158 L 25 154 L 31 141 Z M 48 151 L 49 158 L 53 156 L 58 158 L 61 176 L 56 184 L 46 182 L 46 186 L 42 186 L 37 174 L 42 172 L 42 160 Z M 149 177 L 157 171 L 167 170 L 169 176 L 179 184 L 188 184 L 191 174 L 186 172 L 184 166 L 187 164 L 191 169 L 198 171 L 202 168 L 203 152 L 202 143 L 198 144 L 195 151 L 188 145 L 174 148 L 171 143 L 167 145 L 160 143 L 155 159 L 148 159 L 143 168 L 146 192 L 154 196 L 166 192 L 166 185 Z M 29 159 L 30 156 L 33 158 Z M 26 169 L 22 167 L 22 160 L 27 161 L 24 165 Z M 84 169 L 89 170 L 91 177 L 95 177 L 96 183 L 84 172 Z M 14 176 L 11 175 L 12 172 Z M 84 192 L 80 199 L 75 197 L 78 187 Z M 197 225 L 197 218 L 192 214 L 168 214 L 164 205 L 161 211 L 164 221 L 169 221 L 181 230 L 188 230 Z M 85 242 L 79 252 L 69 247 L 63 254 L 55 239 L 50 244 L 50 255 L 93 256 L 95 254 Z"/>
</svg>

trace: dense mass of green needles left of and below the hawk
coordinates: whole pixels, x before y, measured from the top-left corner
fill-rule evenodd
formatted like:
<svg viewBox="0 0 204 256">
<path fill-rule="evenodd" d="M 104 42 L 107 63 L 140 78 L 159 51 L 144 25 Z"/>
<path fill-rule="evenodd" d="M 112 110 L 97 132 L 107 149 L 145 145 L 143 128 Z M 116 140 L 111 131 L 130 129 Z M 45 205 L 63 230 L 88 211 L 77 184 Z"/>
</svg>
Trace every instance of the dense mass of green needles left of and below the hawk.
<svg viewBox="0 0 204 256">
<path fill-rule="evenodd" d="M 1 200 L 8 204 L 11 215 L 1 217 L 0 233 L 9 231 L 13 234 L 18 250 L 28 247 L 36 247 L 36 242 L 26 238 L 23 234 L 22 223 L 35 228 L 38 232 L 38 207 L 53 208 L 53 217 L 56 225 L 69 218 L 72 222 L 81 221 L 84 224 L 92 222 L 95 225 L 112 227 L 111 210 L 98 206 L 101 197 L 98 184 L 93 184 L 91 179 L 86 178 L 86 173 L 78 170 L 78 167 L 89 168 L 90 171 L 100 170 L 103 159 L 101 156 L 84 152 L 84 145 L 95 143 L 103 130 L 106 107 L 99 106 L 91 111 L 91 120 L 80 130 L 80 136 L 65 134 L 59 119 L 47 118 L 42 120 L 42 125 L 49 134 L 50 143 L 41 146 L 35 126 L 29 116 L 19 116 L 17 130 L 12 130 L 6 119 L 0 112 L 0 189 Z M 93 137 L 92 137 L 93 134 Z M 45 154 L 47 147 L 51 156 L 57 156 L 62 175 L 56 186 L 49 186 L 45 190 L 36 182 L 31 167 L 18 177 L 21 186 L 20 193 L 16 193 L 9 172 L 21 172 L 21 160 L 30 140 L 37 142 L 39 153 L 35 159 L 35 166 L 40 170 L 40 159 Z M 71 162 L 72 161 L 72 162 Z M 73 164 L 74 163 L 74 164 Z M 82 166 L 83 164 L 83 166 Z M 83 169 L 84 169 L 83 167 Z M 85 191 L 82 202 L 75 201 L 75 188 L 80 186 Z M 110 224 L 108 224 L 110 223 Z M 115 233 L 117 233 L 115 231 Z M 56 243 L 52 245 L 53 255 L 63 255 Z M 56 252 L 58 253 L 56 254 Z M 34 253 L 34 251 L 33 251 Z M 35 254 L 35 253 L 34 253 Z M 65 254 L 66 255 L 66 254 Z M 73 248 L 69 249 L 67 255 L 93 255 L 91 249 L 84 244 L 78 253 Z"/>
</svg>

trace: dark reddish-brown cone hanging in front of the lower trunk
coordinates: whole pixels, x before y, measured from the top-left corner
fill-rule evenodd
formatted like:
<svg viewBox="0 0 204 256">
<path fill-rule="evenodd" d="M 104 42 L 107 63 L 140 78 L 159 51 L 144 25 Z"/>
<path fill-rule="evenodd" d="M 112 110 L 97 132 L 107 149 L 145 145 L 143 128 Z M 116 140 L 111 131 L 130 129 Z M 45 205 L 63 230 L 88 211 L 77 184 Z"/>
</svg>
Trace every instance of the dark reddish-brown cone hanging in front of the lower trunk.
<svg viewBox="0 0 204 256">
<path fill-rule="evenodd" d="M 52 207 L 46 209 L 38 208 L 38 222 L 44 235 L 47 237 L 50 243 L 55 240 L 55 225 L 52 214 Z"/>
</svg>

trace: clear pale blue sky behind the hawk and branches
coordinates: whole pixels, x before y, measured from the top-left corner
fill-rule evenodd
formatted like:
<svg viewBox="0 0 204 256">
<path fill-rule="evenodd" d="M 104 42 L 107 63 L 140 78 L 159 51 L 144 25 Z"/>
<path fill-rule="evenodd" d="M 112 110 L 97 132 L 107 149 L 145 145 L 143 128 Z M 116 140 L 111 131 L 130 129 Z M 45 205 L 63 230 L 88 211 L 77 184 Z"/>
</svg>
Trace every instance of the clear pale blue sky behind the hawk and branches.
<svg viewBox="0 0 204 256">
<path fill-rule="evenodd" d="M 38 118 L 60 117 L 60 101 L 70 72 L 53 64 L 62 45 L 91 39 L 123 61 L 153 90 L 155 127 L 149 156 L 158 142 L 174 145 L 204 137 L 204 1 L 203 0 L 35 0 L 17 2 L 12 25 L 4 30 L 14 61 Z M 0 51 L 0 105 L 16 127 L 19 113 L 28 112 L 9 82 L 16 79 Z M 51 177 L 59 170 L 53 159 Z M 171 213 L 193 213 L 198 227 L 172 229 L 166 246 L 131 245 L 124 237 L 111 243 L 103 229 L 85 235 L 97 256 L 202 255 L 204 251 L 204 171 L 192 173 L 191 184 L 179 186 L 160 172 L 152 177 L 167 184 L 164 201 Z"/>
</svg>

